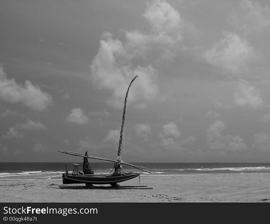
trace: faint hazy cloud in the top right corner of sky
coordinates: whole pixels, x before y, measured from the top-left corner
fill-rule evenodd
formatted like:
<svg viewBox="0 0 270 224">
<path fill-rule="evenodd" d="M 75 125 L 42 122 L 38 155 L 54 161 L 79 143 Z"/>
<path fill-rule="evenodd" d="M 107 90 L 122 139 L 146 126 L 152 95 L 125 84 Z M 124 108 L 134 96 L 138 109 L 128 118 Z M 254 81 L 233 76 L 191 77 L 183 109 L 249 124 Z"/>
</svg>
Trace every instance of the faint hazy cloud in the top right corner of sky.
<svg viewBox="0 0 270 224">
<path fill-rule="evenodd" d="M 239 7 L 233 9 L 228 18 L 230 24 L 245 33 L 259 32 L 270 25 L 270 10 L 259 2 L 241 0 Z"/>
</svg>

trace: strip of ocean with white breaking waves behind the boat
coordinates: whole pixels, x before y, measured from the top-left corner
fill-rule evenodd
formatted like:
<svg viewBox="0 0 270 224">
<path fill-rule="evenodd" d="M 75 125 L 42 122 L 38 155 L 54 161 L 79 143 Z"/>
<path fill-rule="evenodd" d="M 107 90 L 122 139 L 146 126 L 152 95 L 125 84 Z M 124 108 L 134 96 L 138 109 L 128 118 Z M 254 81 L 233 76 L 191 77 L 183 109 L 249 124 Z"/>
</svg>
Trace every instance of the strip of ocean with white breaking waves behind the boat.
<svg viewBox="0 0 270 224">
<path fill-rule="evenodd" d="M 58 179 L 65 172 L 65 164 L 70 172 L 73 163 L 0 163 L 0 181 L 21 179 Z M 80 168 L 82 168 L 82 163 Z M 269 173 L 270 163 L 133 163 L 150 168 L 146 173 L 124 165 L 124 172 L 140 172 L 142 176 L 155 175 L 211 175 L 217 173 Z M 91 163 L 95 174 L 110 173 L 113 163 Z M 113 171 L 112 171 L 113 172 Z"/>
</svg>

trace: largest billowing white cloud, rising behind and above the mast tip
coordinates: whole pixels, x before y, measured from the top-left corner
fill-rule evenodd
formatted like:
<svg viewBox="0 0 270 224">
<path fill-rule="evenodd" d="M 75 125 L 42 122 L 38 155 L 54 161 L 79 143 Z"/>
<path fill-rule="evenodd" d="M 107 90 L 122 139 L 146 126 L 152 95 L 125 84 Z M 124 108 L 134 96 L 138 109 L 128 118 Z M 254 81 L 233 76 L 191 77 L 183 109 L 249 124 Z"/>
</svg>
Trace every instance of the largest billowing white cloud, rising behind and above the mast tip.
<svg viewBox="0 0 270 224">
<path fill-rule="evenodd" d="M 182 40 L 179 12 L 168 2 L 152 1 L 143 14 L 149 22 L 149 34 L 139 30 L 125 31 L 126 43 L 113 39 L 104 32 L 98 53 L 92 61 L 91 80 L 95 87 L 110 91 L 107 103 L 116 108 L 123 107 L 125 91 L 135 75 L 140 79 L 130 89 L 129 102 L 137 108 L 145 107 L 145 101 L 152 100 L 159 93 L 157 71 L 152 64 L 160 60 L 171 60 L 176 43 Z"/>
</svg>

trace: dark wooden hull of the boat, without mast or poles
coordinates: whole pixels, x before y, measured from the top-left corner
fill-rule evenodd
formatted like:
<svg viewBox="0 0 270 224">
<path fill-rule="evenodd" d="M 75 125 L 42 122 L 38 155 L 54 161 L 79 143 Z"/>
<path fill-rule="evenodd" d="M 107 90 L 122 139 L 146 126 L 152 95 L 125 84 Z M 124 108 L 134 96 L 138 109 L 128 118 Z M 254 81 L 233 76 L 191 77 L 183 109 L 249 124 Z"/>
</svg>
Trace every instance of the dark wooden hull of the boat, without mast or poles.
<svg viewBox="0 0 270 224">
<path fill-rule="evenodd" d="M 131 180 L 140 173 L 122 173 L 122 174 L 85 174 L 72 175 L 63 173 L 63 184 L 88 183 L 88 184 L 113 184 L 120 183 L 126 180 Z"/>
</svg>

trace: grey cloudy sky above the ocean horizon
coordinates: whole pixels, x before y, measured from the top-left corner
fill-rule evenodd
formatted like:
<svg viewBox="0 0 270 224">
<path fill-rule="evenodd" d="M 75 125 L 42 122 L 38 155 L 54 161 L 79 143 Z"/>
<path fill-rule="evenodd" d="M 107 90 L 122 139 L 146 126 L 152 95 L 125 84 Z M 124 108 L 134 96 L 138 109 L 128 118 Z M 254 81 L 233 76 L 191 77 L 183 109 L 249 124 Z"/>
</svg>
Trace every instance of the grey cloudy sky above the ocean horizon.
<svg viewBox="0 0 270 224">
<path fill-rule="evenodd" d="M 0 8 L 0 161 L 269 162 L 268 1 Z M 95 161 L 96 162 L 96 161 Z"/>
</svg>

